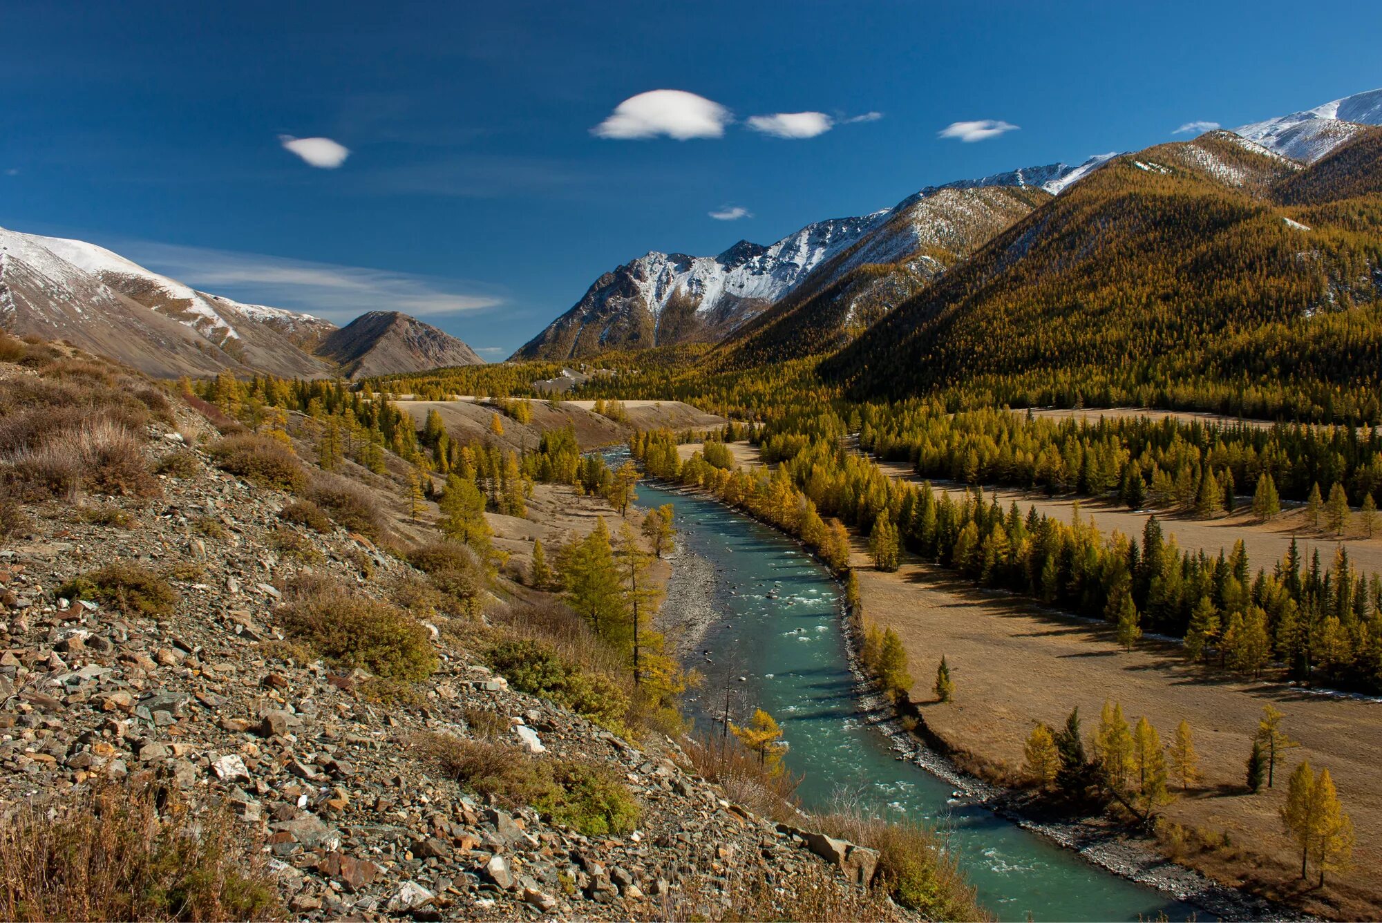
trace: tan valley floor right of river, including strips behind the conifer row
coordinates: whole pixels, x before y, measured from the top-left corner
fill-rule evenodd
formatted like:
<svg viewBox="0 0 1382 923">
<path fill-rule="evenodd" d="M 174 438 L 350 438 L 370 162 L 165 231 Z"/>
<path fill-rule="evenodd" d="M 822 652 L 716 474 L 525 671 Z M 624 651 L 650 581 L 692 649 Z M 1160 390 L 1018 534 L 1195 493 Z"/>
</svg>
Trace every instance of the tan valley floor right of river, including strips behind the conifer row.
<svg viewBox="0 0 1382 923">
<path fill-rule="evenodd" d="M 687 456 L 698 448 L 681 446 Z M 741 464 L 756 463 L 755 446 L 731 448 Z M 883 467 L 894 477 L 916 479 L 908 466 Z M 945 489 L 963 491 L 958 485 Z M 1005 504 L 1016 499 L 1023 510 L 1035 504 L 1067 522 L 1072 514 L 1071 499 L 1010 491 L 999 491 L 998 496 Z M 1150 517 L 1088 503 L 1081 506 L 1081 515 L 1093 518 L 1106 533 L 1119 529 L 1137 536 Z M 1176 535 L 1182 547 L 1211 553 L 1241 537 L 1256 568 L 1285 553 L 1302 515 L 1288 513 L 1267 525 L 1242 515 L 1171 518 L 1162 528 Z M 1035 723 L 1059 725 L 1071 707 L 1079 706 L 1090 734 L 1106 699 L 1121 702 L 1130 723 L 1146 716 L 1162 742 L 1169 742 L 1176 725 L 1186 720 L 1194 731 L 1202 778 L 1164 814 L 1220 840 L 1227 835 L 1229 840 L 1227 846 L 1191 848 L 1184 857 L 1187 864 L 1226 883 L 1252 882 L 1278 897 L 1295 895 L 1299 905 L 1324 916 L 1372 919 L 1382 913 L 1382 779 L 1376 774 L 1382 702 L 1187 666 L 1179 644 L 1157 638 L 1144 638 L 1128 654 L 1103 623 L 1049 611 L 1010 593 L 976 589 L 915 557 L 905 557 L 896 573 L 879 572 L 872 567 L 867 540 L 855 535 L 853 542 L 851 564 L 864 612 L 901 636 L 916 680 L 912 698 L 927 728 L 962 763 L 998 779 L 1016 779 L 1023 743 Z M 1332 560 L 1332 539 L 1300 540 L 1305 554 L 1314 544 L 1325 562 Z M 1382 539 L 1357 539 L 1346 546 L 1361 569 L 1382 569 Z M 955 701 L 944 705 L 930 694 L 941 655 L 956 688 Z M 1244 767 L 1267 703 L 1285 713 L 1284 727 L 1302 746 L 1287 753 L 1284 770 L 1278 765 L 1276 786 L 1253 796 L 1245 790 Z M 1331 883 L 1324 893 L 1312 893 L 1299 882 L 1299 854 L 1287 840 L 1278 814 L 1284 779 L 1302 759 L 1316 768 L 1328 767 L 1357 833 L 1354 868 L 1345 884 Z"/>
</svg>

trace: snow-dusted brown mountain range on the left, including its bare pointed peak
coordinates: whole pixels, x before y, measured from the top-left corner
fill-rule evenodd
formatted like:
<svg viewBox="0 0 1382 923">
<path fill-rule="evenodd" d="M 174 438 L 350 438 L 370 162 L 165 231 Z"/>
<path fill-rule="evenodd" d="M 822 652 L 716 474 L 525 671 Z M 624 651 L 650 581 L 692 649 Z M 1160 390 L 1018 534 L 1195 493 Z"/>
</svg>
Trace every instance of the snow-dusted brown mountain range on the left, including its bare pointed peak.
<svg viewBox="0 0 1382 923">
<path fill-rule="evenodd" d="M 365 316 L 373 319 L 337 330 L 310 314 L 198 292 L 84 240 L 0 228 L 0 325 L 68 340 L 148 374 L 354 377 L 361 369 L 387 374 L 482 361 L 406 315 Z"/>
</svg>

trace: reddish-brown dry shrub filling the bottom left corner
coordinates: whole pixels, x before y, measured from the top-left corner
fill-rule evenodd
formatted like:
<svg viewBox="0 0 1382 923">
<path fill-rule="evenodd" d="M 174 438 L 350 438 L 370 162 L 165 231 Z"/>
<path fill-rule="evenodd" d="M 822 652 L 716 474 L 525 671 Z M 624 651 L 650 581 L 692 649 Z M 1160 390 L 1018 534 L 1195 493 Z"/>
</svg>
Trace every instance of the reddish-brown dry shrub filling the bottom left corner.
<svg viewBox="0 0 1382 923">
<path fill-rule="evenodd" d="M 6 920 L 283 919 L 272 875 L 224 810 L 102 786 L 0 824 Z"/>
</svg>

